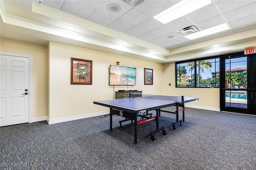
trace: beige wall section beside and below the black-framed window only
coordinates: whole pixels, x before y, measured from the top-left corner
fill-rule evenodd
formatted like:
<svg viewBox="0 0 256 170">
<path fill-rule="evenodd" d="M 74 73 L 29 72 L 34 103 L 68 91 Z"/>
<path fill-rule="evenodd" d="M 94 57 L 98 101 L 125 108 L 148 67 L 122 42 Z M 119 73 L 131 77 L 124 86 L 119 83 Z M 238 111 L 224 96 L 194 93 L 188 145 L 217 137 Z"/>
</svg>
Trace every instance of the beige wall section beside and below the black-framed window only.
<svg viewBox="0 0 256 170">
<path fill-rule="evenodd" d="M 175 88 L 175 63 L 164 64 L 163 76 L 163 94 L 198 97 L 198 101 L 190 102 L 188 105 L 210 107 L 211 109 L 220 108 L 219 88 Z M 171 83 L 171 86 L 169 86 L 169 83 Z"/>
</svg>

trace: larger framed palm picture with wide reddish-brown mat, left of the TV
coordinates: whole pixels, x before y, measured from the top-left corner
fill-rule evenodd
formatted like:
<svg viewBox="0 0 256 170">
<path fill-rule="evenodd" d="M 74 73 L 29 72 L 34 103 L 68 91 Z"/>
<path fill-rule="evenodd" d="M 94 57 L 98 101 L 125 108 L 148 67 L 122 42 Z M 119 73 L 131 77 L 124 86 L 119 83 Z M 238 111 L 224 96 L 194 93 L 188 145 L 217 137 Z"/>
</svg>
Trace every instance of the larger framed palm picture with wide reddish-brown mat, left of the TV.
<svg viewBox="0 0 256 170">
<path fill-rule="evenodd" d="M 92 61 L 71 58 L 70 84 L 92 85 Z"/>
</svg>

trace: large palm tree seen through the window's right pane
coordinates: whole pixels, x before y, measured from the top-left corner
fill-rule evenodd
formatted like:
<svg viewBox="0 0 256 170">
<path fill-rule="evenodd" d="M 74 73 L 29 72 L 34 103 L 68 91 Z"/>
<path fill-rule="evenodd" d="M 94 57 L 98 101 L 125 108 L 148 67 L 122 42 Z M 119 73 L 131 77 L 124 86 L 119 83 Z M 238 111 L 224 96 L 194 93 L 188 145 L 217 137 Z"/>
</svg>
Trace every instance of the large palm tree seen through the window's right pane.
<svg viewBox="0 0 256 170">
<path fill-rule="evenodd" d="M 200 61 L 196 61 L 196 65 L 197 65 L 197 67 L 198 67 L 197 83 L 200 83 L 200 71 L 202 71 L 202 73 L 204 73 L 204 68 L 205 68 L 206 70 L 211 70 L 211 68 L 212 68 L 212 63 L 211 63 L 210 61 L 200 60 Z M 190 72 L 190 70 L 193 71 L 193 70 L 195 69 L 194 61 L 188 63 L 188 67 L 190 67 L 189 72 Z"/>
</svg>

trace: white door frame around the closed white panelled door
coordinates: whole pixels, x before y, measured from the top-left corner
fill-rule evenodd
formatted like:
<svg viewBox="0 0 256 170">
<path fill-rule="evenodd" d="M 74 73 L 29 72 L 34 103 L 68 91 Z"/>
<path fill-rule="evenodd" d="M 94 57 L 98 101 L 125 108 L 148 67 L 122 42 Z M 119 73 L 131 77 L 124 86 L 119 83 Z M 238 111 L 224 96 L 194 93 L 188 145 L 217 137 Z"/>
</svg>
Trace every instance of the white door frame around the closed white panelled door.
<svg viewBox="0 0 256 170">
<path fill-rule="evenodd" d="M 32 123 L 33 122 L 33 85 L 32 85 L 32 82 L 33 82 L 33 79 L 32 79 L 32 70 L 33 70 L 33 65 L 32 65 L 32 58 L 33 56 L 32 55 L 26 55 L 26 54 L 18 54 L 18 53 L 9 53 L 9 52 L 3 52 L 3 51 L 0 51 L 0 55 L 9 55 L 9 56 L 14 56 L 14 57 L 26 57 L 29 59 L 29 102 L 28 102 L 28 117 L 29 117 L 29 120 L 28 120 L 28 123 Z"/>
</svg>

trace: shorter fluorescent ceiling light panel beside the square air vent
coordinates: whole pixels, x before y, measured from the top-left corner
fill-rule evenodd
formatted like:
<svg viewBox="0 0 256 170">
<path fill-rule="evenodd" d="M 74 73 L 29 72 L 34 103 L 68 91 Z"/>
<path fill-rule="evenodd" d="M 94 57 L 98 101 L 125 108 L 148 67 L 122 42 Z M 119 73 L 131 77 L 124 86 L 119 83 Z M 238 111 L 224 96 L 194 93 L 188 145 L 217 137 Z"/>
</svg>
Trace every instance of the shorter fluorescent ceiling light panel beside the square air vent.
<svg viewBox="0 0 256 170">
<path fill-rule="evenodd" d="M 188 34 L 184 37 L 188 38 L 189 40 L 193 40 L 193 39 L 196 39 L 196 38 L 208 36 L 208 35 L 215 34 L 217 32 L 222 32 L 222 31 L 229 30 L 229 29 L 230 28 L 225 23 L 225 24 L 221 24 L 221 25 L 218 25 L 218 26 L 215 26 L 215 27 L 212 27 L 212 28 L 208 28 L 206 30 L 202 30 L 202 31 L 198 31 L 198 32 L 195 32 L 195 33 L 192 33 L 192 34 Z"/>
</svg>

